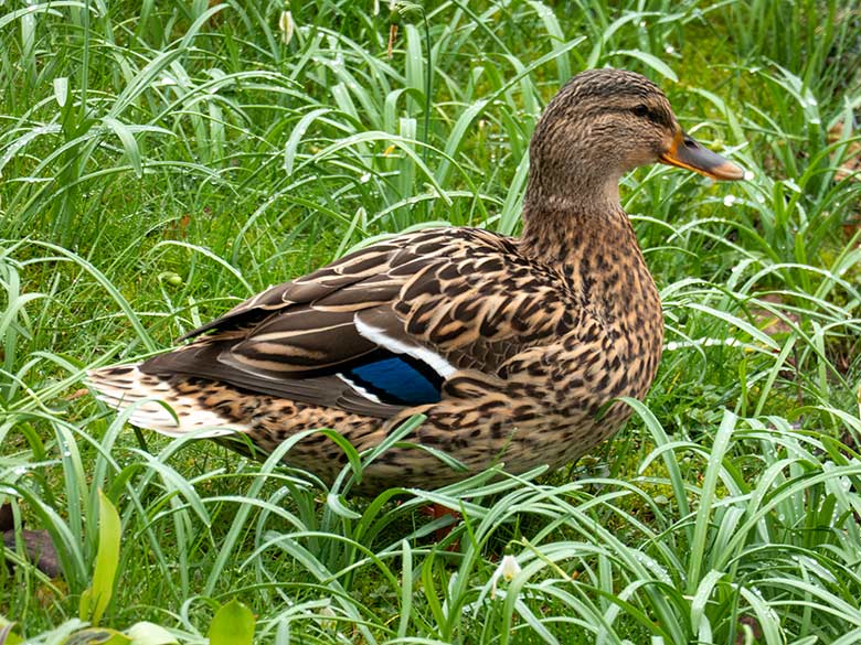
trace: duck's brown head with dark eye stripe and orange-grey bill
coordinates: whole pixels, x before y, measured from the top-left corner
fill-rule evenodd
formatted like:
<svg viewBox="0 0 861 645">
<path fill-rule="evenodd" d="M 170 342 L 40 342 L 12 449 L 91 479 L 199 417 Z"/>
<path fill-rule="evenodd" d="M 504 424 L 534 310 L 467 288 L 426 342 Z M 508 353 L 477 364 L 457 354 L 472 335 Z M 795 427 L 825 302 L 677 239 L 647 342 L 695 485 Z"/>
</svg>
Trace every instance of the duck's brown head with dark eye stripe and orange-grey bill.
<svg viewBox="0 0 861 645">
<path fill-rule="evenodd" d="M 655 162 L 715 180 L 744 176 L 741 168 L 681 129 L 665 94 L 645 76 L 621 69 L 583 72 L 550 101 L 535 127 L 527 201 L 555 207 L 618 203 L 621 176 Z"/>
</svg>

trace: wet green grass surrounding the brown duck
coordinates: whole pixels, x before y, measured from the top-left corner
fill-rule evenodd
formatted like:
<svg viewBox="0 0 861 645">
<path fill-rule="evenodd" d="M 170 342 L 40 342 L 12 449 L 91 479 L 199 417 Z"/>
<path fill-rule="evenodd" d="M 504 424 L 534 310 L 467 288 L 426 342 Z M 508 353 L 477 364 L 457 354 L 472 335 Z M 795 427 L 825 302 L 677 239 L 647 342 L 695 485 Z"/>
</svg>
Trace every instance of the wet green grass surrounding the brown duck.
<svg viewBox="0 0 861 645">
<path fill-rule="evenodd" d="M 236 599 L 275 643 L 861 641 L 861 182 L 837 174 L 858 154 L 861 6 L 373 8 L 293 2 L 285 43 L 280 2 L 2 7 L 13 634 L 61 643 L 95 619 L 217 642 Z M 374 236 L 515 233 L 542 106 L 603 65 L 655 78 L 753 179 L 626 178 L 668 344 L 598 453 L 357 499 L 360 465 L 326 493 L 277 465 L 289 444 L 258 463 L 136 436 L 81 396 L 87 367 L 166 348 Z M 428 501 L 463 514 L 442 541 Z M 61 577 L 28 563 L 22 526 L 49 531 Z M 504 555 L 520 571 L 493 589 Z"/>
</svg>

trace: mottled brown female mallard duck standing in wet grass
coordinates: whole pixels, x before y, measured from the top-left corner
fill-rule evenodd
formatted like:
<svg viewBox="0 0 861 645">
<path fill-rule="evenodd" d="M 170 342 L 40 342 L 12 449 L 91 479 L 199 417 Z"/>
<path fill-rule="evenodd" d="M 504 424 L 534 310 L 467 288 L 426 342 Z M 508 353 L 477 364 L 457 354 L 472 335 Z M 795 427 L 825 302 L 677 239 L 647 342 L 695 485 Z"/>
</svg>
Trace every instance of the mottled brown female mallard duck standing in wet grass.
<svg viewBox="0 0 861 645">
<path fill-rule="evenodd" d="M 660 161 L 720 180 L 742 170 L 688 137 L 647 78 L 584 72 L 530 146 L 523 235 L 410 233 L 273 287 L 184 346 L 89 374 L 131 423 L 164 434 L 247 434 L 264 451 L 333 428 L 362 451 L 426 420 L 364 473 L 363 488 L 435 487 L 503 462 L 570 463 L 610 437 L 661 357 L 661 304 L 619 204 L 619 180 Z M 605 409 L 606 408 L 606 409 Z M 602 415 L 598 412 L 602 411 Z M 213 427 L 217 427 L 213 429 Z M 312 434 L 286 456 L 331 481 L 344 455 Z"/>
</svg>

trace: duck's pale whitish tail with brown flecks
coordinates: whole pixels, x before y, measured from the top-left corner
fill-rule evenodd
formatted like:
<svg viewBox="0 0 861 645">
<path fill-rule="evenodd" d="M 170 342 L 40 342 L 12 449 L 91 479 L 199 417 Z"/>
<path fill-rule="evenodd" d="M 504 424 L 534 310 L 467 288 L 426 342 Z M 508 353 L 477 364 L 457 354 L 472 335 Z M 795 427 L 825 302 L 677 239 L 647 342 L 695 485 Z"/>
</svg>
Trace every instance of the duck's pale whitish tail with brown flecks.
<svg viewBox="0 0 861 645">
<path fill-rule="evenodd" d="M 204 407 L 202 397 L 194 395 L 189 383 L 178 388 L 176 380 L 177 377 L 166 379 L 144 374 L 135 364 L 91 369 L 86 384 L 95 390 L 98 400 L 111 408 L 123 411 L 134 407 L 129 423 L 161 434 L 179 437 L 198 432 L 200 438 L 212 438 L 246 430 L 216 409 Z"/>
</svg>

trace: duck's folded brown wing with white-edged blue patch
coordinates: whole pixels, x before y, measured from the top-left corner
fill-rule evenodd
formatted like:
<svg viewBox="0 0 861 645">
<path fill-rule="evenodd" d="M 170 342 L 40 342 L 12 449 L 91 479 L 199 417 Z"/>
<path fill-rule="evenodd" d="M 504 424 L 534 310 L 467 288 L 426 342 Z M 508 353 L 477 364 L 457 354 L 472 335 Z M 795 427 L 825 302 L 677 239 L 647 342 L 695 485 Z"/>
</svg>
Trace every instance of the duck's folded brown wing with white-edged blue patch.
<svg viewBox="0 0 861 645">
<path fill-rule="evenodd" d="M 511 353 L 489 346 L 555 331 L 564 307 L 534 284 L 513 289 L 534 276 L 510 266 L 512 250 L 478 229 L 379 243 L 243 302 L 140 369 L 389 418 L 438 401 L 457 369 L 492 370 Z"/>
</svg>

